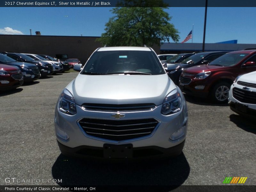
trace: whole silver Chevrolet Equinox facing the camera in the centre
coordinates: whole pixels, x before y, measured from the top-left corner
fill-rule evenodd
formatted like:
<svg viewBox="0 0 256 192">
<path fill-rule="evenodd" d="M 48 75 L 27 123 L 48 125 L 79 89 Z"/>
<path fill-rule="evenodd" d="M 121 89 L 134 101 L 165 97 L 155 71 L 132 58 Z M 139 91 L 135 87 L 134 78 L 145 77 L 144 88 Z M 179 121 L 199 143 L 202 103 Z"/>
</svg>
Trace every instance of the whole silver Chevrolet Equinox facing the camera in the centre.
<svg viewBox="0 0 256 192">
<path fill-rule="evenodd" d="M 62 91 L 55 132 L 62 154 L 77 157 L 177 156 L 188 125 L 185 98 L 148 47 L 95 50 Z"/>
</svg>

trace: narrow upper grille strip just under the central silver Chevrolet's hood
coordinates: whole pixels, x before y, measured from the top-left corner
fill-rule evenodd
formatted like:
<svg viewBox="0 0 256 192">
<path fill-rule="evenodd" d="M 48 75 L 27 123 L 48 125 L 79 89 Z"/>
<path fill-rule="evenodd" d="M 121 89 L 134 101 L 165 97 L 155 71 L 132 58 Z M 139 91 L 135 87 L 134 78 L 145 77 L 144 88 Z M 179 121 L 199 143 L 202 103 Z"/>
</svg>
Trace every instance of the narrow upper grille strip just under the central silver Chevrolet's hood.
<svg viewBox="0 0 256 192">
<path fill-rule="evenodd" d="M 141 111 L 152 110 L 156 108 L 154 103 L 140 103 L 140 104 L 98 104 L 98 103 L 84 103 L 82 105 L 86 110 L 101 110 L 101 111 Z"/>
</svg>

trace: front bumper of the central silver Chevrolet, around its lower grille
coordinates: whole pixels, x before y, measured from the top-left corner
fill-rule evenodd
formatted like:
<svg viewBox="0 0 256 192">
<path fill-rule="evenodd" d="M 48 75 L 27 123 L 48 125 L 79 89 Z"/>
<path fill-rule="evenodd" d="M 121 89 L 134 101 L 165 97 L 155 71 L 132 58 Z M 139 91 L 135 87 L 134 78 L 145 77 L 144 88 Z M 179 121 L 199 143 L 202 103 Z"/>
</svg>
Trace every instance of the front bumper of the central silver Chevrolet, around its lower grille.
<svg viewBox="0 0 256 192">
<path fill-rule="evenodd" d="M 59 144 L 60 150 L 65 155 L 76 156 L 78 151 L 82 150 L 83 148 L 100 150 L 103 148 L 104 144 L 115 144 L 115 145 L 132 144 L 135 151 L 139 150 L 140 148 L 150 149 L 150 150 L 153 149 L 161 152 L 161 153 L 159 152 L 160 154 L 158 153 L 158 155 L 165 154 L 164 151 L 166 151 L 166 153 L 168 153 L 169 151 L 171 153 L 169 154 L 169 156 L 179 155 L 184 146 L 184 141 L 187 133 L 187 124 L 188 124 L 188 113 L 187 113 L 187 106 L 186 106 L 185 99 L 183 102 L 182 109 L 178 113 L 164 116 L 161 114 L 161 108 L 162 108 L 162 105 L 150 111 L 124 112 L 125 117 L 122 118 L 122 120 L 154 118 L 159 123 L 155 127 L 154 131 L 148 136 L 135 138 L 131 140 L 112 141 L 112 140 L 104 140 L 101 138 L 95 138 L 90 135 L 87 135 L 83 131 L 81 126 L 78 125 L 78 121 L 81 120 L 82 118 L 94 118 L 94 119 L 97 118 L 97 119 L 113 120 L 113 118 L 111 118 L 111 115 L 114 112 L 87 111 L 80 106 L 76 106 L 77 113 L 76 115 L 71 116 L 71 115 L 67 115 L 60 112 L 56 107 L 55 119 L 54 119 L 55 132 L 56 132 L 57 140 L 60 143 Z M 118 121 L 118 119 L 116 121 Z M 171 140 L 170 136 L 184 126 L 185 126 L 184 135 L 177 140 Z M 59 130 L 61 130 L 61 132 L 64 132 L 68 135 L 68 140 L 63 140 L 58 136 L 57 132 Z M 178 145 L 180 147 L 173 148 Z M 172 150 L 173 150 L 173 154 L 172 154 Z M 81 154 L 79 156 L 81 156 Z"/>
</svg>

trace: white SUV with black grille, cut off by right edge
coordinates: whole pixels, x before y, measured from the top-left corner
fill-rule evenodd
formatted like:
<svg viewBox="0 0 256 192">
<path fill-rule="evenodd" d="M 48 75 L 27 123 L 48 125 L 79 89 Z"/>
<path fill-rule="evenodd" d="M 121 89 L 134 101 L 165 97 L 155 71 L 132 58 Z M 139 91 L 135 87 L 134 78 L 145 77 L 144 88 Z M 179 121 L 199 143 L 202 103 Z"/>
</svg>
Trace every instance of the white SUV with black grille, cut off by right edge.
<svg viewBox="0 0 256 192">
<path fill-rule="evenodd" d="M 256 71 L 236 77 L 229 91 L 230 109 L 240 115 L 256 117 Z"/>
</svg>

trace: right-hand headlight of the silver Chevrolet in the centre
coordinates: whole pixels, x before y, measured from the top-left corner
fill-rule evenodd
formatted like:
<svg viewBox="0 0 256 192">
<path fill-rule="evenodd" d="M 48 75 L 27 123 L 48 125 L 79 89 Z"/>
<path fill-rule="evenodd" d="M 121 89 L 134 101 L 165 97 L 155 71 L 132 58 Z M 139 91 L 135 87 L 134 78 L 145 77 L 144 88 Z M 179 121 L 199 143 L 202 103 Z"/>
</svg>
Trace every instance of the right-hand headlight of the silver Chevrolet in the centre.
<svg viewBox="0 0 256 192">
<path fill-rule="evenodd" d="M 164 98 L 161 113 L 163 115 L 177 113 L 180 111 L 180 108 L 181 108 L 180 93 L 178 92 L 177 89 L 174 89 Z"/>
</svg>

